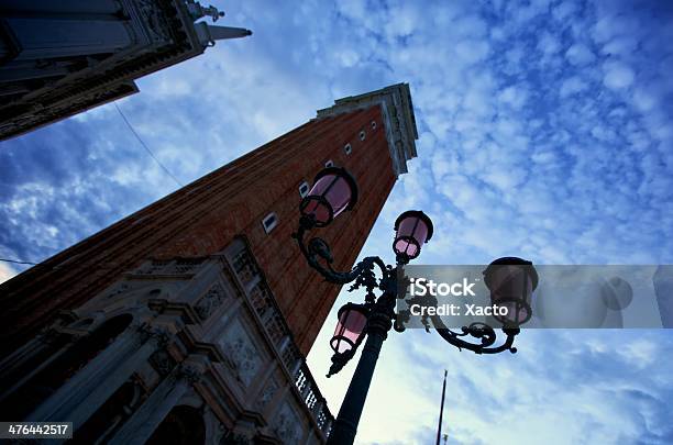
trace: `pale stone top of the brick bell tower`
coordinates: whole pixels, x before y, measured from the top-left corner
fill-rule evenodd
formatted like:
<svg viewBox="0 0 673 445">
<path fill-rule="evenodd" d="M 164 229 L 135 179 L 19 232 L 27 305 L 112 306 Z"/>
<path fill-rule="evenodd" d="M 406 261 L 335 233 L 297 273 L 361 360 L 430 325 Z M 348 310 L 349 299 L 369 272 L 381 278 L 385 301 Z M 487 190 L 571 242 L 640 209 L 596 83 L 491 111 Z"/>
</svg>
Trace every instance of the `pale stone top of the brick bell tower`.
<svg viewBox="0 0 673 445">
<path fill-rule="evenodd" d="M 338 99 L 332 107 L 318 110 L 316 119 L 320 120 L 373 105 L 380 107 L 395 176 L 406 174 L 408 171 L 407 160 L 417 156 L 416 140 L 418 138 L 409 84 L 391 85 L 364 94 Z"/>
</svg>

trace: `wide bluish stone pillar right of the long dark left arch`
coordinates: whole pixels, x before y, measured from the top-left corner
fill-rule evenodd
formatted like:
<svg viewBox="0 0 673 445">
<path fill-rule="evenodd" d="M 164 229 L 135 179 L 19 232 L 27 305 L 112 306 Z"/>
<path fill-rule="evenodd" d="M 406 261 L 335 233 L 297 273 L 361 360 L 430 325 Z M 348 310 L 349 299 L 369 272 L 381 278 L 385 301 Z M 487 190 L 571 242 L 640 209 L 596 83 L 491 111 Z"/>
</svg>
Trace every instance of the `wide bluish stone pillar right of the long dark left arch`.
<svg viewBox="0 0 673 445">
<path fill-rule="evenodd" d="M 68 421 L 77 430 L 166 338 L 163 331 L 126 330 L 26 420 Z"/>
</svg>

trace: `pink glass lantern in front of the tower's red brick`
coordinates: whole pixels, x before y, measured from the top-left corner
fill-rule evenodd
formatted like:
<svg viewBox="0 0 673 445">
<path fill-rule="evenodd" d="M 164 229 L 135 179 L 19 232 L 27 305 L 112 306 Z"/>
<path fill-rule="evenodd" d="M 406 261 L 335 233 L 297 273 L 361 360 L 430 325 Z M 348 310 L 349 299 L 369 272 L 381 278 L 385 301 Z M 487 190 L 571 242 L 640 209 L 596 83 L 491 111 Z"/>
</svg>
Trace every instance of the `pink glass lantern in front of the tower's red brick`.
<svg viewBox="0 0 673 445">
<path fill-rule="evenodd" d="M 313 187 L 301 200 L 299 210 L 301 214 L 312 216 L 316 226 L 323 227 L 356 202 L 355 179 L 343 168 L 328 167 L 316 176 Z"/>
</svg>

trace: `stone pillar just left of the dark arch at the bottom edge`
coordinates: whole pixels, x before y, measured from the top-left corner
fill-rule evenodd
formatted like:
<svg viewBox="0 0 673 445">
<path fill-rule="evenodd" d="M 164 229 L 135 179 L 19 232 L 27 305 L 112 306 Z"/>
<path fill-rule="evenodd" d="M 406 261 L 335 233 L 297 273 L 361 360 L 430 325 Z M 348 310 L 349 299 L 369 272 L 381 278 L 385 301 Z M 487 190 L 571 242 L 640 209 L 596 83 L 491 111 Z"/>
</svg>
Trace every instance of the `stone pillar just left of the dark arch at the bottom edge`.
<svg viewBox="0 0 673 445">
<path fill-rule="evenodd" d="M 205 366 L 199 358 L 188 358 L 176 367 L 114 434 L 109 444 L 144 444 L 189 387 L 200 380 Z"/>
</svg>

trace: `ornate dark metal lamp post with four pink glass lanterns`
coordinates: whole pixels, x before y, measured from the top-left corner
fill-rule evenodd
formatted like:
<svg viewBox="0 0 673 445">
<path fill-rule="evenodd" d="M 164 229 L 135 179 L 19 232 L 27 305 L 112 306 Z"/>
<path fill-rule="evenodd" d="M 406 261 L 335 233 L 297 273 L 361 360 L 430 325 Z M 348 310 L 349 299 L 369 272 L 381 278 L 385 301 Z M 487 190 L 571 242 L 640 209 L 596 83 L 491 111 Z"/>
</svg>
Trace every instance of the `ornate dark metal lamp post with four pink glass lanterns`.
<svg viewBox="0 0 673 445">
<path fill-rule="evenodd" d="M 339 310 L 339 322 L 330 341 L 334 354 L 328 377 L 339 372 L 353 358 L 366 337 L 353 379 L 328 438 L 328 444 L 334 445 L 352 444 L 355 440 L 383 342 L 394 325 L 397 332 L 404 332 L 404 324 L 410 318 L 408 310 L 395 313 L 400 266 L 417 258 L 422 245 L 430 241 L 433 233 L 432 221 L 428 215 L 418 210 L 406 211 L 395 222 L 395 267 L 386 265 L 377 256 L 372 256 L 357 263 L 352 270 L 334 270 L 334 259 L 327 242 L 319 237 L 311 237 L 307 242 L 306 237 L 311 230 L 326 227 L 334 218 L 352 209 L 356 201 L 357 185 L 345 169 L 329 167 L 321 170 L 313 181 L 313 187 L 301 200 L 299 229 L 293 234 L 308 265 L 327 281 L 335 285 L 352 283 L 349 291 L 360 288 L 366 290 L 364 303 L 346 303 Z M 378 280 L 374 274 L 375 268 L 378 268 L 382 276 Z M 506 257 L 488 266 L 484 271 L 484 281 L 490 291 L 492 302 L 508 308 L 508 315 L 497 319 L 504 324 L 503 333 L 506 335 L 501 345 L 493 346 L 497 334 L 485 323 L 472 323 L 464 326 L 462 332 L 454 332 L 443 324 L 440 316 L 433 315 L 423 319 L 426 330 L 430 329 L 430 319 L 440 336 L 459 349 L 465 348 L 476 354 L 496 354 L 503 351 L 516 353 L 517 349 L 512 345 L 515 336 L 520 332 L 518 326 L 531 315 L 530 299 L 537 286 L 537 272 L 530 262 Z M 378 297 L 375 290 L 380 292 Z M 422 297 L 422 303 L 437 304 L 437 301 L 434 297 L 427 296 Z M 509 314 L 509 310 L 512 310 L 512 314 Z M 468 337 L 477 342 L 468 342 Z"/>
</svg>

